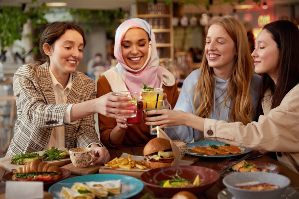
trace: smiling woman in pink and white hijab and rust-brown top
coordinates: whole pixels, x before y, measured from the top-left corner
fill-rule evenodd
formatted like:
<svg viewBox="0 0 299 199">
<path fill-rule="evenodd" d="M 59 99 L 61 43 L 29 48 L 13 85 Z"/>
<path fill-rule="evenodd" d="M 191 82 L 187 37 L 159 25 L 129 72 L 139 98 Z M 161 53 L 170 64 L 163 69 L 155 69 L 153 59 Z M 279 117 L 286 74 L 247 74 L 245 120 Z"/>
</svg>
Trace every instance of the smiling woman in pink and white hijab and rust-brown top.
<svg viewBox="0 0 299 199">
<path fill-rule="evenodd" d="M 111 91 L 137 91 L 139 95 L 146 83 L 163 88 L 163 99 L 174 107 L 178 98 L 175 79 L 159 66 L 155 36 L 148 22 L 137 18 L 124 21 L 116 30 L 114 56 L 118 63 L 98 79 L 97 97 Z M 125 118 L 116 120 L 99 114 L 101 141 L 107 147 L 144 146 L 150 139 L 145 118 L 144 114 L 140 125 L 128 126 Z"/>
</svg>

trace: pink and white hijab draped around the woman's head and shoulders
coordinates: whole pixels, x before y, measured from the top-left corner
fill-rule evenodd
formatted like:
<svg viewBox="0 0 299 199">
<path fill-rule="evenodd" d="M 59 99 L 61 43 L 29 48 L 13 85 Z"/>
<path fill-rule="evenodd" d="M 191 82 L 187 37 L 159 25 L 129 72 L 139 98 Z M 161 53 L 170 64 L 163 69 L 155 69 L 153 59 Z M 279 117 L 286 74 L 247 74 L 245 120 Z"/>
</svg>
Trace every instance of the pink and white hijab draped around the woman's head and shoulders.
<svg viewBox="0 0 299 199">
<path fill-rule="evenodd" d="M 131 69 L 124 61 L 121 42 L 128 29 L 142 28 L 149 35 L 149 55 L 145 64 L 138 70 Z M 151 31 L 149 23 L 142 19 L 130 19 L 124 21 L 116 30 L 114 56 L 118 63 L 113 70 L 116 70 L 125 82 L 129 91 L 137 91 L 138 95 L 142 90 L 143 83 L 153 88 L 161 88 L 162 84 L 172 86 L 175 83 L 174 76 L 165 68 L 159 66 L 159 58 L 156 49 L 155 35 Z"/>
</svg>

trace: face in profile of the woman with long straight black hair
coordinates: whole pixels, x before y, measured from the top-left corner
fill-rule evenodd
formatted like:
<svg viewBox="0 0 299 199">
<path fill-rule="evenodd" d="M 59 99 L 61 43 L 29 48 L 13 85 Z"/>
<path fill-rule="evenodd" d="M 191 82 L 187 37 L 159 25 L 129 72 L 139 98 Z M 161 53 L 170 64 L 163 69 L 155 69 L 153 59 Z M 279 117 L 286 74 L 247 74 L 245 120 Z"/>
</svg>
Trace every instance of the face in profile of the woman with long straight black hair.
<svg viewBox="0 0 299 199">
<path fill-rule="evenodd" d="M 276 83 L 278 76 L 279 49 L 271 33 L 262 30 L 255 41 L 255 50 L 251 54 L 255 61 L 257 74 L 267 73 Z"/>
</svg>

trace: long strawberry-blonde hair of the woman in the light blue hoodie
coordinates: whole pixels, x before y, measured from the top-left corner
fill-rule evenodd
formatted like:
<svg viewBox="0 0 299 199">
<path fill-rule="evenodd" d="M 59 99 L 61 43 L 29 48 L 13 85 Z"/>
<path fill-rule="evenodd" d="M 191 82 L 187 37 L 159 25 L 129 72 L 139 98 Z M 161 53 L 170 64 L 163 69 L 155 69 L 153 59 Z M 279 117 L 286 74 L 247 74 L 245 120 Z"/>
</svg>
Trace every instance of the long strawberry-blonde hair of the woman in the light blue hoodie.
<svg viewBox="0 0 299 199">
<path fill-rule="evenodd" d="M 250 96 L 250 82 L 253 76 L 252 59 L 249 50 L 246 30 L 243 24 L 234 17 L 223 17 L 211 20 L 205 27 L 208 29 L 213 25 L 221 25 L 235 42 L 236 51 L 232 75 L 226 88 L 227 95 L 224 99 L 225 106 L 231 109 L 229 122 L 241 121 L 247 124 L 252 121 L 252 99 Z M 203 118 L 209 118 L 214 105 L 214 78 L 213 68 L 208 64 L 205 53 L 203 54 L 200 77 L 196 83 L 193 99 L 195 114 Z M 199 92 L 199 97 L 198 97 Z M 228 104 L 228 100 L 231 102 Z M 198 106 L 199 104 L 199 106 Z"/>
</svg>

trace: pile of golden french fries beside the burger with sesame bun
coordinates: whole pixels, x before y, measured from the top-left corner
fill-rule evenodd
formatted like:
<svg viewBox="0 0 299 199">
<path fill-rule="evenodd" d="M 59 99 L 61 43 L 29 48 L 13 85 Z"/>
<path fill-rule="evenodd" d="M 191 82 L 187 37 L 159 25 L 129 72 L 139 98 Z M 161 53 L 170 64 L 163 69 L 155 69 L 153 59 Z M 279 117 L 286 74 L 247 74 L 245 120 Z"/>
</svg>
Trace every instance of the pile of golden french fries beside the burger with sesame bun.
<svg viewBox="0 0 299 199">
<path fill-rule="evenodd" d="M 118 169 L 118 170 L 137 170 L 147 171 L 149 170 L 143 163 L 143 156 L 132 156 L 127 153 L 123 153 L 121 157 L 114 158 L 108 161 L 104 168 Z"/>
</svg>

